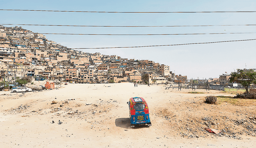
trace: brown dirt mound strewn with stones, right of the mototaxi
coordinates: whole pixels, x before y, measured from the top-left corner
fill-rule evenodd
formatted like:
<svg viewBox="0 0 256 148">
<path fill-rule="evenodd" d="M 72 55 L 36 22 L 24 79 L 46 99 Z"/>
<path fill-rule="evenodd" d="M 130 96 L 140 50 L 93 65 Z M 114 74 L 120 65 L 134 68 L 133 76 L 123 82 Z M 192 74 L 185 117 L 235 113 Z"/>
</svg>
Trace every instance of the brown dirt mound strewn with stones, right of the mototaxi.
<svg viewBox="0 0 256 148">
<path fill-rule="evenodd" d="M 256 136 L 256 111 L 254 107 L 210 105 L 203 99 L 193 102 L 170 103 L 168 107 L 156 108 L 151 112 L 173 135 L 182 137 L 226 136 L 241 139 L 241 135 Z M 210 134 L 204 128 L 221 130 Z"/>
</svg>

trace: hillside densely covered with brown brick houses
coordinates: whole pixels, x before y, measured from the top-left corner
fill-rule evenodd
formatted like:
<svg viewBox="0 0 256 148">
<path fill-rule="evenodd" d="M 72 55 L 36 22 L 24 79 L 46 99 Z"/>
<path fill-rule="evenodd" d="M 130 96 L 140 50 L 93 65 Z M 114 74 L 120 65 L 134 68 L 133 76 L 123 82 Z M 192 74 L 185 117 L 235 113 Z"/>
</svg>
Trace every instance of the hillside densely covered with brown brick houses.
<svg viewBox="0 0 256 148">
<path fill-rule="evenodd" d="M 32 76 L 74 83 L 152 84 L 178 77 L 164 64 L 76 51 L 17 26 L 0 26 L 0 62 L 0 81 L 10 82 Z"/>
</svg>

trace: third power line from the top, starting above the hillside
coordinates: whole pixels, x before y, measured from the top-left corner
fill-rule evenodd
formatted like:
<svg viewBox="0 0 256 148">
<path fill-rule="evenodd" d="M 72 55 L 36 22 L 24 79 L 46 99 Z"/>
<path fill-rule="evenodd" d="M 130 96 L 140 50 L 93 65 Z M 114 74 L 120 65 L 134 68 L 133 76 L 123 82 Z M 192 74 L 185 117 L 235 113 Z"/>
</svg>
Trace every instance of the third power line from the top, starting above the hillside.
<svg viewBox="0 0 256 148">
<path fill-rule="evenodd" d="M 90 36 L 166 36 L 166 35 L 205 35 L 205 34 L 256 34 L 255 32 L 236 32 L 236 33 L 196 33 L 196 34 L 62 34 L 62 33 L 39 33 L 55 35 L 90 35 Z"/>
</svg>

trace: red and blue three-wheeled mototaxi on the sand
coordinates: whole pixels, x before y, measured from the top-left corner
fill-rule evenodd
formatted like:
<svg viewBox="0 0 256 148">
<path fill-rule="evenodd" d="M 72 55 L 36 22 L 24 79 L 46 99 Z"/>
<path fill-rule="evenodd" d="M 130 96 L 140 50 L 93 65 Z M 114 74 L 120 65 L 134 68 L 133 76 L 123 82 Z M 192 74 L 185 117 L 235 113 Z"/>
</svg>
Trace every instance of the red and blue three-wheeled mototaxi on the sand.
<svg viewBox="0 0 256 148">
<path fill-rule="evenodd" d="M 127 104 L 129 105 L 131 127 L 135 125 L 151 126 L 148 104 L 143 98 L 131 98 Z"/>
</svg>

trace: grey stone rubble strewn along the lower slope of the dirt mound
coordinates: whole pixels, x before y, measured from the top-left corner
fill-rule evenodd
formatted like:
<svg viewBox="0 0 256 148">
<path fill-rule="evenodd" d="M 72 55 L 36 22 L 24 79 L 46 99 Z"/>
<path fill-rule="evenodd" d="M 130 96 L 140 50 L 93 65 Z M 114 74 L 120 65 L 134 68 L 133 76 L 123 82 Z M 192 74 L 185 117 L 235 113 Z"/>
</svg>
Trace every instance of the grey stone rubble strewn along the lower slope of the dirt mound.
<svg viewBox="0 0 256 148">
<path fill-rule="evenodd" d="M 246 134 L 256 136 L 256 118 L 244 117 L 241 119 L 232 119 L 228 116 L 202 116 L 197 117 L 192 114 L 181 116 L 180 113 L 172 112 L 167 108 L 157 108 L 155 113 L 152 113 L 155 118 L 168 120 L 165 126 L 180 133 L 182 137 L 198 138 L 198 137 L 218 137 L 226 136 L 228 138 L 241 139 L 240 135 Z M 151 115 L 151 118 L 153 117 Z M 246 114 L 244 114 L 246 115 Z M 240 115 L 241 116 L 241 115 Z M 160 119 L 158 119 L 160 120 Z M 218 134 L 209 134 L 204 128 L 213 128 L 221 130 Z"/>
</svg>

